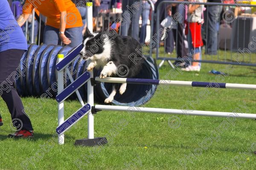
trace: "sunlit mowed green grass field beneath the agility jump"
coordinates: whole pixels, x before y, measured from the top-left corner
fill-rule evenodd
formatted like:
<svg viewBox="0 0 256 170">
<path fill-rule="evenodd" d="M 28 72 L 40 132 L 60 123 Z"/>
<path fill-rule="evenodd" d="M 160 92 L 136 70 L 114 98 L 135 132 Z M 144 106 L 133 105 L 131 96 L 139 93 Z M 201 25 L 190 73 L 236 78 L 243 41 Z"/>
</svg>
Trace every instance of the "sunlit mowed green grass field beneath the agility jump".
<svg viewBox="0 0 256 170">
<path fill-rule="evenodd" d="M 208 71 L 225 70 L 226 66 L 203 63 L 199 73 L 178 72 L 168 77 L 217 82 L 216 75 Z M 232 68 L 222 82 L 256 84 L 255 67 L 233 65 Z M 159 70 L 160 79 L 165 79 L 171 69 L 166 62 Z M 180 109 L 188 105 L 190 110 L 233 112 L 239 108 L 243 113 L 256 113 L 256 91 L 253 90 L 179 86 L 159 89 L 144 107 Z M 204 99 L 200 97 L 203 93 Z M 57 102 L 49 99 L 40 103 L 39 100 L 22 98 L 25 108 L 38 104 L 35 113 L 29 114 L 35 137 L 14 140 L 7 138 L 14 131 L 6 104 L 0 99 L 4 121 L 0 127 L 0 169 L 254 170 L 256 167 L 254 119 L 100 111 L 94 120 L 95 137 L 107 136 L 109 144 L 76 147 L 76 139 L 87 138 L 87 116 L 65 133 L 65 144 L 58 145 L 54 142 L 56 138 L 52 138 L 58 125 Z M 78 101 L 65 102 L 65 118 L 80 107 Z"/>
</svg>

